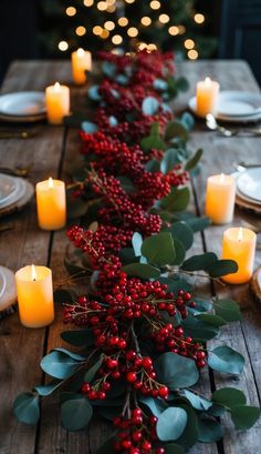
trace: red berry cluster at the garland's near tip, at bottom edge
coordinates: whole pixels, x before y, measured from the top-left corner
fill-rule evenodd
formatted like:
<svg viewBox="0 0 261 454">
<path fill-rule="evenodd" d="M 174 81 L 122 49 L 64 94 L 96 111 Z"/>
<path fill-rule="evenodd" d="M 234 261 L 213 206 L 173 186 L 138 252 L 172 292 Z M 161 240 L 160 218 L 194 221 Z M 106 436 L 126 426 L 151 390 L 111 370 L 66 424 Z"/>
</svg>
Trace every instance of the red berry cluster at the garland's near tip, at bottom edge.
<svg viewBox="0 0 261 454">
<path fill-rule="evenodd" d="M 129 417 L 115 417 L 114 426 L 118 431 L 115 451 L 123 454 L 164 454 L 164 447 L 158 444 L 156 424 L 156 416 L 146 416 L 138 407 L 132 411 Z"/>
</svg>

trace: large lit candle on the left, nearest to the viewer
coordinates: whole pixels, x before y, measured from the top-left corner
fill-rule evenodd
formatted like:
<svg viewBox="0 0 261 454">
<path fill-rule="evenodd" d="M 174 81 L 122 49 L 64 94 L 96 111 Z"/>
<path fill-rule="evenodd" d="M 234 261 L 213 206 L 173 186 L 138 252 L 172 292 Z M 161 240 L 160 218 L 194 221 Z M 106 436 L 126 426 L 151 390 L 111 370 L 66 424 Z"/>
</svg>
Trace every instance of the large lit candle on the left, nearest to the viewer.
<svg viewBox="0 0 261 454">
<path fill-rule="evenodd" d="M 52 272 L 45 266 L 24 266 L 15 273 L 21 323 L 41 327 L 54 319 Z"/>
</svg>

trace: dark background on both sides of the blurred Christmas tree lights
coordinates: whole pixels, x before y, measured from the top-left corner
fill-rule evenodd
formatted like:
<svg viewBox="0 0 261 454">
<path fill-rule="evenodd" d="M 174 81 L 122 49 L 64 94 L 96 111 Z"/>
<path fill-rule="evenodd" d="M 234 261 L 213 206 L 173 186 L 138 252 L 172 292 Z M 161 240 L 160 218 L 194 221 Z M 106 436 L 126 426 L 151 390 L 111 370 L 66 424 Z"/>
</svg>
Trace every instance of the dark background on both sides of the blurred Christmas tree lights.
<svg viewBox="0 0 261 454">
<path fill-rule="evenodd" d="M 39 41 L 42 0 L 0 0 L 0 81 L 14 59 L 46 58 Z M 171 1 L 171 0 L 168 0 Z M 198 0 L 208 17 L 206 34 L 217 37 L 213 58 L 249 61 L 261 83 L 261 0 Z"/>
</svg>

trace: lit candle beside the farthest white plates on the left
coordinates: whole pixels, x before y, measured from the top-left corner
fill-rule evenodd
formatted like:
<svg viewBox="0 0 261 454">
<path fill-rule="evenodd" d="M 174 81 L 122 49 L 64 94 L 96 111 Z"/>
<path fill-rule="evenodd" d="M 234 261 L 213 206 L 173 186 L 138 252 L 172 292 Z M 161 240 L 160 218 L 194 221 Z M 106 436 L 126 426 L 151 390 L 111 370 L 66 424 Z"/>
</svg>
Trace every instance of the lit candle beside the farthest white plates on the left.
<svg viewBox="0 0 261 454">
<path fill-rule="evenodd" d="M 62 124 L 63 118 L 70 113 L 70 90 L 55 82 L 45 89 L 48 121 L 51 124 Z"/>
</svg>

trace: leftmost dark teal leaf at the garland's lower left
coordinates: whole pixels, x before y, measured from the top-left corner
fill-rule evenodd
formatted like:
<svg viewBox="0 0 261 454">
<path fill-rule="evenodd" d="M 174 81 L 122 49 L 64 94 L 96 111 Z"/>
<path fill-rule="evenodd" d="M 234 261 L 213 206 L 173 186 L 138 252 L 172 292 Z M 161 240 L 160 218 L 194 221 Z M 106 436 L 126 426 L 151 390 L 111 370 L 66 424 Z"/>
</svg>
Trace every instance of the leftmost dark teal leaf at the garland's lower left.
<svg viewBox="0 0 261 454">
<path fill-rule="evenodd" d="M 21 423 L 36 424 L 40 417 L 39 396 L 32 393 L 19 394 L 13 402 L 13 412 Z"/>
</svg>

